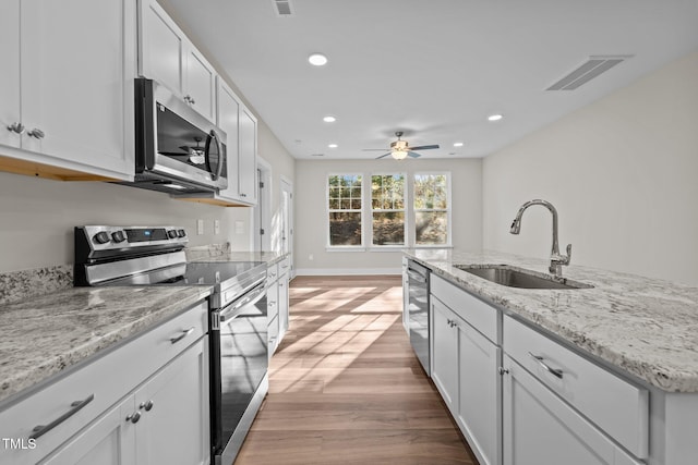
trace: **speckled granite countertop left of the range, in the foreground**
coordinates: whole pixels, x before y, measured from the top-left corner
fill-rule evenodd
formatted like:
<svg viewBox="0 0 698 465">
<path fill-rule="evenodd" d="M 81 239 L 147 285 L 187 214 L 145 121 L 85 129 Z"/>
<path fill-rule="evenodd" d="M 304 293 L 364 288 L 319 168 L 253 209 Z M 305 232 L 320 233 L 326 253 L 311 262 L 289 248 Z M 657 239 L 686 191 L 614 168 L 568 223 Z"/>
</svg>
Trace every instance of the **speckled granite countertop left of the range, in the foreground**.
<svg viewBox="0 0 698 465">
<path fill-rule="evenodd" d="M 186 310 L 210 286 L 69 287 L 0 305 L 0 403 Z"/>
</svg>

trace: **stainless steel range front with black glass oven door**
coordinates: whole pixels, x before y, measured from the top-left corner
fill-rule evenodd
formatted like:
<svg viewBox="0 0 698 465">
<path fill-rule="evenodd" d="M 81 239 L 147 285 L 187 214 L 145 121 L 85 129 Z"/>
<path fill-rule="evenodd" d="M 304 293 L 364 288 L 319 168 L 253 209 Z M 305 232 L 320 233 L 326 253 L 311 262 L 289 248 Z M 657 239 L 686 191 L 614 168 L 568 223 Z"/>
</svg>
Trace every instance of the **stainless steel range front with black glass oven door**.
<svg viewBox="0 0 698 465">
<path fill-rule="evenodd" d="M 232 463 L 268 388 L 266 281 L 213 311 L 213 463 Z"/>
</svg>

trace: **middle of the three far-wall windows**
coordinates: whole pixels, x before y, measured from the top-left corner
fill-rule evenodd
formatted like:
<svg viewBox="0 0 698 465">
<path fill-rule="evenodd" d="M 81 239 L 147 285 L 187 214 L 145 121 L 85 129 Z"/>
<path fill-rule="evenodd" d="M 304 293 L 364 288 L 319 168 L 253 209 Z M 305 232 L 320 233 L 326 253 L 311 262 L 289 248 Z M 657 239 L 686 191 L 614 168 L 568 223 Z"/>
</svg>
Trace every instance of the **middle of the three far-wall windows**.
<svg viewBox="0 0 698 465">
<path fill-rule="evenodd" d="M 371 176 L 373 245 L 405 245 L 405 174 Z"/>
</svg>

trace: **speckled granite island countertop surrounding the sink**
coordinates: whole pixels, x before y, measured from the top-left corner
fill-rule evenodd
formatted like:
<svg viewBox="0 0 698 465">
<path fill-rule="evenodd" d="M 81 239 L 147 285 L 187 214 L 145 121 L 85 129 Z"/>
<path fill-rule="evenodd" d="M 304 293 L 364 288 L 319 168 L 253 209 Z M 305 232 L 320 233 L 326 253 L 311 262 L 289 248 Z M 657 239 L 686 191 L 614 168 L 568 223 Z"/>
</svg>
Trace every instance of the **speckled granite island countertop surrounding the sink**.
<svg viewBox="0 0 698 465">
<path fill-rule="evenodd" d="M 563 267 L 563 277 L 592 289 L 525 290 L 492 283 L 454 265 L 510 265 L 547 273 L 547 260 L 446 249 L 410 249 L 406 255 L 653 387 L 698 393 L 696 286 L 573 265 Z"/>
</svg>

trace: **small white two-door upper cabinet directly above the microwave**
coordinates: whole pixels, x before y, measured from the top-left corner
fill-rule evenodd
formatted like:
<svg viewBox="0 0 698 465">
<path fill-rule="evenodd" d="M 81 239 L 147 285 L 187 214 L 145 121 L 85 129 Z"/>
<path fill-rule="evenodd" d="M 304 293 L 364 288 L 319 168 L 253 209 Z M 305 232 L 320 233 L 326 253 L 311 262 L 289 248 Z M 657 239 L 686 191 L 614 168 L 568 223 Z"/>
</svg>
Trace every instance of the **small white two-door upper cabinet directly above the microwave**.
<svg viewBox="0 0 698 465">
<path fill-rule="evenodd" d="M 141 0 L 139 73 L 215 121 L 216 72 L 155 0 Z"/>
</svg>

